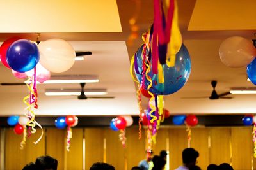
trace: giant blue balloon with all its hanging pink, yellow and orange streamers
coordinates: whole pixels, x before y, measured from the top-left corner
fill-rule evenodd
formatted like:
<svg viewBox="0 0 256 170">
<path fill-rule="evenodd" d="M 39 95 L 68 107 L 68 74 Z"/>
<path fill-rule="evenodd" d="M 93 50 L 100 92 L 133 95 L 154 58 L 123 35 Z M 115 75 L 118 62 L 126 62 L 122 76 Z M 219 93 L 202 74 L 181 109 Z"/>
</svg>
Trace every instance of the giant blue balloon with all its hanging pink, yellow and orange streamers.
<svg viewBox="0 0 256 170">
<path fill-rule="evenodd" d="M 150 132 L 147 141 L 155 141 L 157 129 L 163 114 L 163 95 L 173 94 L 188 81 L 191 72 L 191 60 L 188 49 L 182 44 L 179 31 L 177 3 L 170 0 L 163 5 L 154 0 L 154 23 L 142 36 L 143 44 L 131 59 L 130 72 L 138 83 L 138 104 L 140 107 L 139 134 L 143 122 L 141 94 L 150 98 Z M 141 137 L 141 136 L 140 136 Z M 140 138 L 139 137 L 139 138 Z M 151 144 L 148 144 L 151 145 Z M 152 149 L 148 146 L 148 149 Z"/>
</svg>

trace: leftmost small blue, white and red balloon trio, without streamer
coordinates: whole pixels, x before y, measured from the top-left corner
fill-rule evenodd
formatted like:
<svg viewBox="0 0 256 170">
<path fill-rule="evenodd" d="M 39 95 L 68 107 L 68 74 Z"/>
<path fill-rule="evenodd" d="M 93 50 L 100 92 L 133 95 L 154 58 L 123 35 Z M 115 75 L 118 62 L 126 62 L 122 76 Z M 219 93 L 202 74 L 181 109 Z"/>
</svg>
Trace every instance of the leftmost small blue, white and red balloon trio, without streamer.
<svg viewBox="0 0 256 170">
<path fill-rule="evenodd" d="M 14 126 L 14 132 L 15 134 L 22 134 L 24 132 L 24 127 L 29 122 L 29 118 L 25 116 L 17 116 L 13 115 L 8 117 L 7 124 L 10 126 Z"/>
</svg>

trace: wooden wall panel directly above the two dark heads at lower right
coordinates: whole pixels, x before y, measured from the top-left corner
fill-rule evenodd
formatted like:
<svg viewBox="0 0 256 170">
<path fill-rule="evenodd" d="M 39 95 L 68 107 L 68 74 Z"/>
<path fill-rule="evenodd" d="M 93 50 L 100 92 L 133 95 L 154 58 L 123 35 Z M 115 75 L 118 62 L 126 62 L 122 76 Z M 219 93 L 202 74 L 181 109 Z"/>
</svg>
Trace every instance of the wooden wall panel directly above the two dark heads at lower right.
<svg viewBox="0 0 256 170">
<path fill-rule="evenodd" d="M 209 132 L 211 136 L 209 163 L 230 163 L 230 128 L 212 127 Z"/>
</svg>

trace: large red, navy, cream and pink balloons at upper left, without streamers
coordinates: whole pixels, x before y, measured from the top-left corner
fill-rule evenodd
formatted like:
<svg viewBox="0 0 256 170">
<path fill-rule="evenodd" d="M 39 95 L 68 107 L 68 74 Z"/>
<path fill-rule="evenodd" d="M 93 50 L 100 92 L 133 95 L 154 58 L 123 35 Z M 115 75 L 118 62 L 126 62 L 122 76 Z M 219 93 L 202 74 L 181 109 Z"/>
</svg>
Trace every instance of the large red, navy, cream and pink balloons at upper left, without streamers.
<svg viewBox="0 0 256 170">
<path fill-rule="evenodd" d="M 1 62 L 16 78 L 32 76 L 36 67 L 36 80 L 44 83 L 51 74 L 61 73 L 70 69 L 75 62 L 73 47 L 63 39 L 48 39 L 36 42 L 27 39 L 10 38 L 0 46 Z M 30 71 L 30 72 L 29 72 Z"/>
</svg>

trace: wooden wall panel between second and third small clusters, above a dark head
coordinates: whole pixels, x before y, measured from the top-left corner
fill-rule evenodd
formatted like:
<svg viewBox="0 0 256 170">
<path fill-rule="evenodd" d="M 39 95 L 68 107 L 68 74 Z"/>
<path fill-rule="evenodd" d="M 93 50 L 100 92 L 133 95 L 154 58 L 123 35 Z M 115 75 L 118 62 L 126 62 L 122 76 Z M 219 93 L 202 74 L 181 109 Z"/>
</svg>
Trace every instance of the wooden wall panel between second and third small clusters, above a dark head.
<svg viewBox="0 0 256 170">
<path fill-rule="evenodd" d="M 103 139 L 102 128 L 86 128 L 85 136 L 85 169 L 88 170 L 95 162 L 103 162 Z"/>
</svg>

